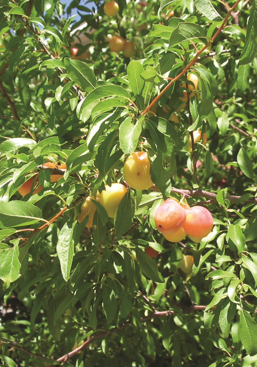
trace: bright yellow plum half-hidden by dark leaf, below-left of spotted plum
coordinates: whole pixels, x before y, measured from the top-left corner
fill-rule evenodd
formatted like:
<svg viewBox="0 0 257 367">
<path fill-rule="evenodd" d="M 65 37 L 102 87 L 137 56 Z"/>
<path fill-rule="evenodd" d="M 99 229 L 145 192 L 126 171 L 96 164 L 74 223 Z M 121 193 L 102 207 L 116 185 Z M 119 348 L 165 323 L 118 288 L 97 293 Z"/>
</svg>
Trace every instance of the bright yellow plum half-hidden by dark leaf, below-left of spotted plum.
<svg viewBox="0 0 257 367">
<path fill-rule="evenodd" d="M 105 208 L 110 218 L 114 218 L 120 200 L 127 193 L 127 188 L 122 183 L 114 182 L 111 186 L 105 185 L 101 191 L 100 204 Z"/>
</svg>

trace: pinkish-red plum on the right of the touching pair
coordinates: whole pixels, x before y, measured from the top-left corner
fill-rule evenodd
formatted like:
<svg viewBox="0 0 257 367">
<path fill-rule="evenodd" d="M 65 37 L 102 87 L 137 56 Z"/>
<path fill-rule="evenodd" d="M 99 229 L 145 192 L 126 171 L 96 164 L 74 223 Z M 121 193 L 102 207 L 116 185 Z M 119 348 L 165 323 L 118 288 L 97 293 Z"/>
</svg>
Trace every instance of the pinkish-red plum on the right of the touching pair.
<svg viewBox="0 0 257 367">
<path fill-rule="evenodd" d="M 209 235 L 213 228 L 213 217 L 208 209 L 196 205 L 185 212 L 183 228 L 188 236 L 202 239 Z"/>
</svg>

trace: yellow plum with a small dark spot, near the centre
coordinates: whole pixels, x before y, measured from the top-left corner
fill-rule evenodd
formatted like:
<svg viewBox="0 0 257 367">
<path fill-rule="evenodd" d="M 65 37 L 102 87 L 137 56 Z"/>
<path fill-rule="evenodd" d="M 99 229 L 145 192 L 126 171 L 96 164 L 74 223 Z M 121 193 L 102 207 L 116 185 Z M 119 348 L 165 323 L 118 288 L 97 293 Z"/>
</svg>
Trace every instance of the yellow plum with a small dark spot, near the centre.
<svg viewBox="0 0 257 367">
<path fill-rule="evenodd" d="M 150 176 L 150 162 L 147 152 L 131 153 L 123 166 L 124 180 L 136 190 L 149 189 L 153 182 Z"/>
</svg>

